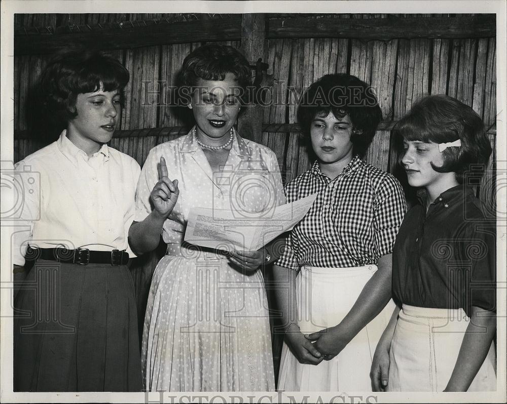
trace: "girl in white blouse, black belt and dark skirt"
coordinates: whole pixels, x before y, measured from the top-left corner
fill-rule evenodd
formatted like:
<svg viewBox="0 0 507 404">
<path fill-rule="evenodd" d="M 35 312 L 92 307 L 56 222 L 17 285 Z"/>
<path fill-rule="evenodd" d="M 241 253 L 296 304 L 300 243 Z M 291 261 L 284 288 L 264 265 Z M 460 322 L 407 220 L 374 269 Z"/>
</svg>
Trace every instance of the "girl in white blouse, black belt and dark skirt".
<svg viewBox="0 0 507 404">
<path fill-rule="evenodd" d="M 45 112 L 65 130 L 15 167 L 24 183 L 14 234 L 15 391 L 140 391 L 132 278 L 136 161 L 107 146 L 129 73 L 118 60 L 69 51 L 42 73 Z M 31 266 L 31 269 L 30 269 Z"/>
</svg>

